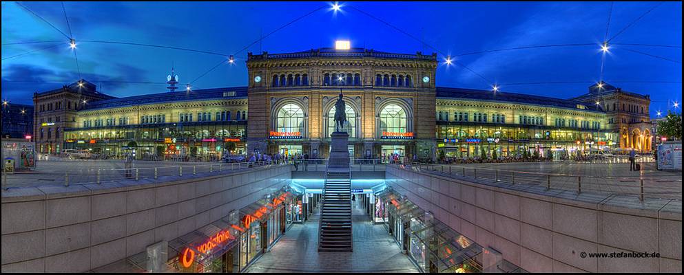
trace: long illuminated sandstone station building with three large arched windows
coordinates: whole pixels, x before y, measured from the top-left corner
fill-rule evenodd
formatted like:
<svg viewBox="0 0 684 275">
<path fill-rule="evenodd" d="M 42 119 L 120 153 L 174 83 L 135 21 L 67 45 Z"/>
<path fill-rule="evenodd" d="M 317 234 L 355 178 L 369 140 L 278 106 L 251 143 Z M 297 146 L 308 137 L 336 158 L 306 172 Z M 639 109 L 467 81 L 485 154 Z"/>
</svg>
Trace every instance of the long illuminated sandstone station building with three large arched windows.
<svg viewBox="0 0 684 275">
<path fill-rule="evenodd" d="M 34 94 L 34 133 L 47 133 L 34 138 L 42 153 L 85 148 L 113 156 L 279 152 L 326 158 L 333 105 L 342 93 L 355 158 L 651 149 L 648 96 L 605 83 L 573 100 L 437 87 L 438 65 L 436 54 L 322 48 L 248 54 L 247 87 L 113 98 L 80 80 Z M 61 129 L 51 129 L 54 117 Z"/>
</svg>

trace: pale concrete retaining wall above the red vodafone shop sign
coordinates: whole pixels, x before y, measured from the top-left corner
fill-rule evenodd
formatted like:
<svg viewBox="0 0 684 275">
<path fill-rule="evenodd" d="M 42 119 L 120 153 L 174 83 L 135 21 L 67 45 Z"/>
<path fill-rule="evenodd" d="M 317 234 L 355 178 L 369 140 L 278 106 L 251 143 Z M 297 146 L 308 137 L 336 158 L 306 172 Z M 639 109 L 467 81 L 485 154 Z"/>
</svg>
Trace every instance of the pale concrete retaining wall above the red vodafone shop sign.
<svg viewBox="0 0 684 275">
<path fill-rule="evenodd" d="M 291 166 L 3 191 L 2 272 L 87 272 L 171 241 L 289 184 Z"/>
</svg>

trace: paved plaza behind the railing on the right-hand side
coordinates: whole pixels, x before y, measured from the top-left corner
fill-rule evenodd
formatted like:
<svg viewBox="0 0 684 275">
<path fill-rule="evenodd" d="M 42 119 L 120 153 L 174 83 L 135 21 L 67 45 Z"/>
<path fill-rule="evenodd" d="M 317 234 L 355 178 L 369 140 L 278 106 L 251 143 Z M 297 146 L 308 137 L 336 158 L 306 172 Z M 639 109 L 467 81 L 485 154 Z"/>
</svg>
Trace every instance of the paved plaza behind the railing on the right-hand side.
<svg viewBox="0 0 684 275">
<path fill-rule="evenodd" d="M 639 195 L 643 180 L 644 197 L 682 199 L 681 171 L 656 170 L 654 162 L 641 163 L 641 170 L 630 171 L 629 163 L 524 162 L 499 164 L 445 165 L 444 173 L 468 179 L 504 183 L 536 184 L 563 190 Z M 430 168 L 442 172 L 441 166 Z M 496 170 L 499 170 L 498 172 Z M 515 175 L 512 173 L 515 172 Z"/>
</svg>

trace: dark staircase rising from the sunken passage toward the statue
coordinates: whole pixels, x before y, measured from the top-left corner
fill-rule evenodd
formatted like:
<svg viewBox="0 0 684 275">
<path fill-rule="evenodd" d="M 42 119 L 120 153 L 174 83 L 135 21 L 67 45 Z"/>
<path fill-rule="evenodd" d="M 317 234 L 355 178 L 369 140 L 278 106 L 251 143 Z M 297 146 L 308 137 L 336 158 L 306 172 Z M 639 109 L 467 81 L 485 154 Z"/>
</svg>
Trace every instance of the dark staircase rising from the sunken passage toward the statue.
<svg viewBox="0 0 684 275">
<path fill-rule="evenodd" d="M 318 251 L 352 252 L 349 169 L 328 169 L 321 207 Z"/>
</svg>

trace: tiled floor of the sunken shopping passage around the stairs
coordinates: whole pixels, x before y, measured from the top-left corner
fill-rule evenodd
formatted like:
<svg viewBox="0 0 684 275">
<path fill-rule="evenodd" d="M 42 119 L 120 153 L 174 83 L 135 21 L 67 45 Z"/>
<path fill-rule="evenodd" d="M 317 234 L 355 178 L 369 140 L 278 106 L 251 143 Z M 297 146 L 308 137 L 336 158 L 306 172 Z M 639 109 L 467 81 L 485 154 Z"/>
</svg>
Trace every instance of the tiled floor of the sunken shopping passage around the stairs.
<svg viewBox="0 0 684 275">
<path fill-rule="evenodd" d="M 354 252 L 318 252 L 318 214 L 303 225 L 293 225 L 282 239 L 247 272 L 401 272 L 417 273 L 382 225 L 355 203 Z"/>
</svg>

